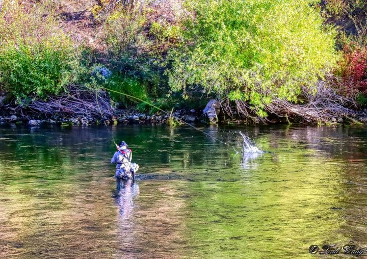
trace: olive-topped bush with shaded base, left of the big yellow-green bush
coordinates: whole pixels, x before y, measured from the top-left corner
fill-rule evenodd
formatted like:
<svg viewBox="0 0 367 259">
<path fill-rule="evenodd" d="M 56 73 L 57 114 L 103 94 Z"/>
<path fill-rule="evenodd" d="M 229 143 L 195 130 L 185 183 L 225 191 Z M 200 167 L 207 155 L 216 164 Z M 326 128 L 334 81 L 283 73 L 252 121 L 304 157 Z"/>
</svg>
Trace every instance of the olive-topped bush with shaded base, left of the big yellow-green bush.
<svg viewBox="0 0 367 259">
<path fill-rule="evenodd" d="M 106 65 L 126 78 L 134 77 L 142 82 L 152 97 L 165 95 L 168 91 L 165 57 L 167 50 L 181 37 L 178 22 L 165 20 L 161 15 L 163 11 L 159 5 L 116 7 L 103 21 Z"/>
</svg>

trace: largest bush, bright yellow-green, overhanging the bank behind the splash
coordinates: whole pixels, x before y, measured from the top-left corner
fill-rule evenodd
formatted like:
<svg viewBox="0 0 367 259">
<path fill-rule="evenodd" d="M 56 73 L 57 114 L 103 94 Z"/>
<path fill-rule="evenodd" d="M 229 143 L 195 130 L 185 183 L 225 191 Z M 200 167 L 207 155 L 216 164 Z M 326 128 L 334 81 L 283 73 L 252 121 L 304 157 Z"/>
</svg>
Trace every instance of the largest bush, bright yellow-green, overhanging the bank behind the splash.
<svg viewBox="0 0 367 259">
<path fill-rule="evenodd" d="M 208 93 L 250 103 L 260 116 L 274 96 L 297 101 L 336 65 L 334 31 L 301 0 L 187 1 L 184 42 L 169 53 L 173 90 L 201 85 Z"/>
</svg>

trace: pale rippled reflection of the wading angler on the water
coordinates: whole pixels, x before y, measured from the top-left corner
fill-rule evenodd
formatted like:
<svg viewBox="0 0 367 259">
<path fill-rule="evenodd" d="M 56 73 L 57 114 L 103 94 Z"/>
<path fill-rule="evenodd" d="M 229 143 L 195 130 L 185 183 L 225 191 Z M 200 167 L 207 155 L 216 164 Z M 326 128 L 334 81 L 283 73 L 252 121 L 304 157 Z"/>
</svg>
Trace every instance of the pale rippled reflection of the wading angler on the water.
<svg viewBox="0 0 367 259">
<path fill-rule="evenodd" d="M 116 202 L 120 220 L 132 219 L 134 214 L 133 199 L 139 195 L 139 185 L 132 179 L 116 179 Z"/>
</svg>

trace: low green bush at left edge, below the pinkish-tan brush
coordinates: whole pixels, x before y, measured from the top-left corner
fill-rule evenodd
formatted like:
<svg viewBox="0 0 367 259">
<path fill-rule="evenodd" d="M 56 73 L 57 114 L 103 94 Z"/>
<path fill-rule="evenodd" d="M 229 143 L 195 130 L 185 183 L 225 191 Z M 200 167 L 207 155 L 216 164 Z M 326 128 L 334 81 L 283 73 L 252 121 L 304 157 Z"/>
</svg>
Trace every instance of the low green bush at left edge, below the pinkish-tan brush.
<svg viewBox="0 0 367 259">
<path fill-rule="evenodd" d="M 70 83 L 73 62 L 73 48 L 56 49 L 50 42 L 8 45 L 0 50 L 0 80 L 18 99 L 45 98 Z"/>
</svg>

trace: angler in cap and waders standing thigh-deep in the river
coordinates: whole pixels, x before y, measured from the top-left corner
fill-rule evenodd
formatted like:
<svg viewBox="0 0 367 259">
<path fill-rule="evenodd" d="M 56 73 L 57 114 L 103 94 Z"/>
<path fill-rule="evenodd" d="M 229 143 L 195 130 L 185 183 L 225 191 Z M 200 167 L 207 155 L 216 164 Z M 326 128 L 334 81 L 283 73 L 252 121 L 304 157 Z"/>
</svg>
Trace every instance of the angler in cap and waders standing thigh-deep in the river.
<svg viewBox="0 0 367 259">
<path fill-rule="evenodd" d="M 127 148 L 125 141 L 121 141 L 116 145 L 117 151 L 111 159 L 111 164 L 116 163 L 116 177 L 118 178 L 132 178 L 131 161 L 133 157 L 132 150 Z"/>
</svg>

